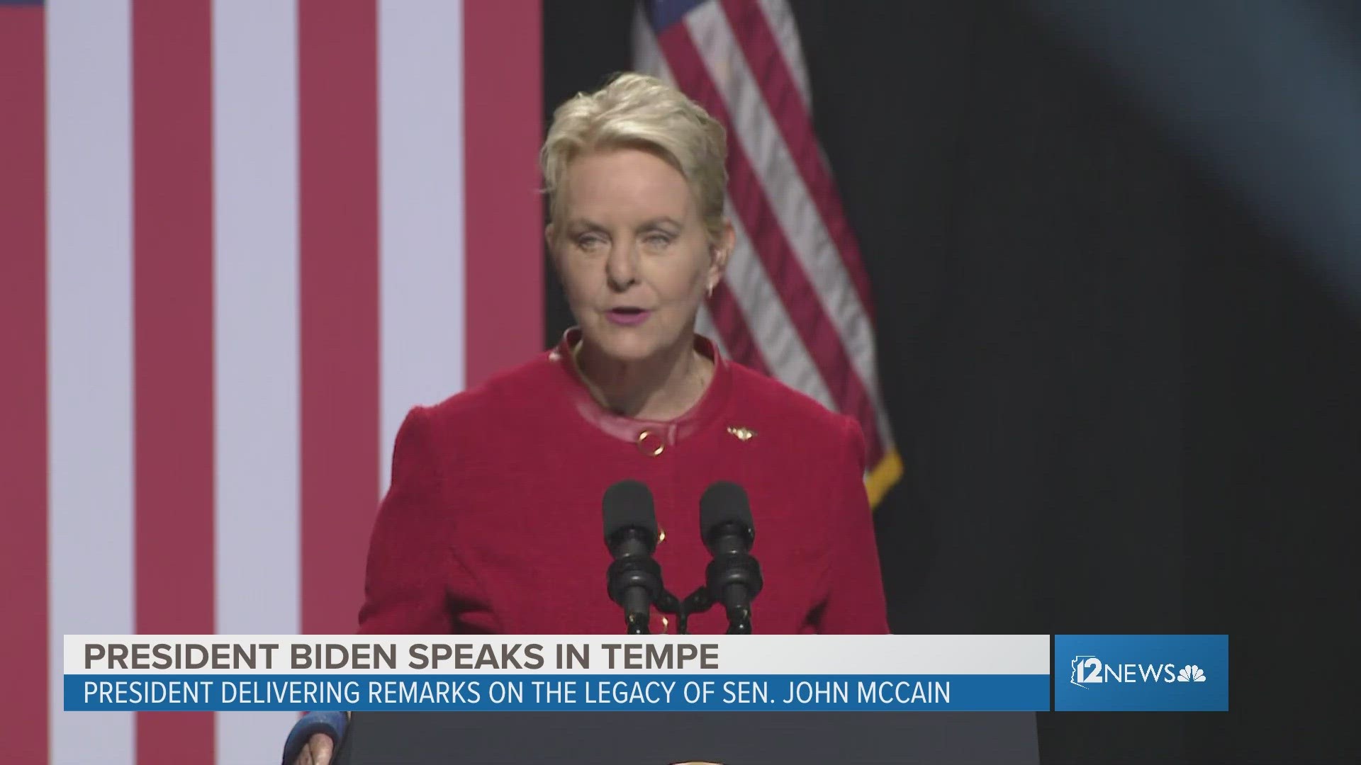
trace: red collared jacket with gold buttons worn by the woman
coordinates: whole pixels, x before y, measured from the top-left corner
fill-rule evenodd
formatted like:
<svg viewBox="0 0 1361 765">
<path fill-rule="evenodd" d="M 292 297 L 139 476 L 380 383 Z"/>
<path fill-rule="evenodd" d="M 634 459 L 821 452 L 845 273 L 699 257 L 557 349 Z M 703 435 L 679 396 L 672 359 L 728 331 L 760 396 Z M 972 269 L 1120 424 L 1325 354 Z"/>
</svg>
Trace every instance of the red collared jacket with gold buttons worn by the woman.
<svg viewBox="0 0 1361 765">
<path fill-rule="evenodd" d="M 715 359 L 690 412 L 644 422 L 602 410 L 558 348 L 437 406 L 397 434 L 392 487 L 369 547 L 362 633 L 622 634 L 606 593 L 600 498 L 627 478 L 652 490 L 667 589 L 704 581 L 700 495 L 742 485 L 765 587 L 754 633 L 886 633 L 856 422 L 765 376 Z M 690 633 L 727 629 L 721 606 Z M 675 633 L 653 613 L 652 632 Z"/>
</svg>

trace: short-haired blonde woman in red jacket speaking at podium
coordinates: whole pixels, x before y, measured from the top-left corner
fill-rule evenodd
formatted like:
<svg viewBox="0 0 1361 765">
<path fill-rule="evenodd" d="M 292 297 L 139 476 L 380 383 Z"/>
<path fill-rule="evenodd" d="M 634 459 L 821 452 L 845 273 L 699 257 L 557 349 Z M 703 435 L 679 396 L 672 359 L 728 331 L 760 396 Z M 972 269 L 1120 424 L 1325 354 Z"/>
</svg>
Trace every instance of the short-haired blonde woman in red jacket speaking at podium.
<svg viewBox="0 0 1361 765">
<path fill-rule="evenodd" d="M 600 498 L 630 478 L 652 490 L 671 592 L 704 583 L 700 495 L 732 481 L 750 497 L 765 577 L 754 632 L 887 632 L 859 426 L 694 332 L 734 246 L 725 155 L 719 123 L 642 75 L 555 112 L 540 155 L 546 237 L 578 327 L 407 417 L 359 632 L 622 633 Z M 657 613 L 651 626 L 675 632 Z M 721 607 L 689 622 L 725 628 Z M 329 749 L 313 735 L 297 762 L 327 762 Z"/>
</svg>

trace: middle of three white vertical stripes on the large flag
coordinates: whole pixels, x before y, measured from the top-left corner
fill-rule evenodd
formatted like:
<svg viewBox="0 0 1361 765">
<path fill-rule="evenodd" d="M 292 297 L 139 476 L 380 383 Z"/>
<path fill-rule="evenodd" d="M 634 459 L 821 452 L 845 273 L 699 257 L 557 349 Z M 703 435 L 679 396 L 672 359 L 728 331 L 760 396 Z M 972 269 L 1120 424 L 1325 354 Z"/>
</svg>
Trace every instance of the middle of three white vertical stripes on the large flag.
<svg viewBox="0 0 1361 765">
<path fill-rule="evenodd" d="M 215 623 L 299 630 L 298 29 L 212 7 Z M 297 715 L 216 715 L 218 762 L 279 757 Z"/>
</svg>

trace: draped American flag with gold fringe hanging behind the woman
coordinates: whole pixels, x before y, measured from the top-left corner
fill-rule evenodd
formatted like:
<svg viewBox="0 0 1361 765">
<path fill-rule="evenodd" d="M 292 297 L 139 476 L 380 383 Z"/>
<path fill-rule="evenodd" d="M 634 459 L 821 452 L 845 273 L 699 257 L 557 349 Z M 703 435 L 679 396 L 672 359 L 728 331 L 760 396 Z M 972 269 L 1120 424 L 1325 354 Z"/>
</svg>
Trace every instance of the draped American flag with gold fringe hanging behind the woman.
<svg viewBox="0 0 1361 765">
<path fill-rule="evenodd" d="M 785 0 L 649 0 L 634 67 L 728 129 L 736 249 L 701 313 L 729 358 L 856 418 L 872 504 L 898 481 L 879 391 L 870 280 L 813 129 L 807 67 Z"/>
</svg>

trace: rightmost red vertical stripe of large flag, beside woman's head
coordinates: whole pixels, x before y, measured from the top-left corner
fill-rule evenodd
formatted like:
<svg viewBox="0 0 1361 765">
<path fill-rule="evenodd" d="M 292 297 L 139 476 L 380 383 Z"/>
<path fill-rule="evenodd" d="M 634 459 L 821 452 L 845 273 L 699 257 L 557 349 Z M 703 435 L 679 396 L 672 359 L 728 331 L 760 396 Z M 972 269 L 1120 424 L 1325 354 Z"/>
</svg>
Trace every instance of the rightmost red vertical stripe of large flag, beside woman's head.
<svg viewBox="0 0 1361 765">
<path fill-rule="evenodd" d="M 543 350 L 539 0 L 463 4 L 465 387 Z"/>
</svg>

